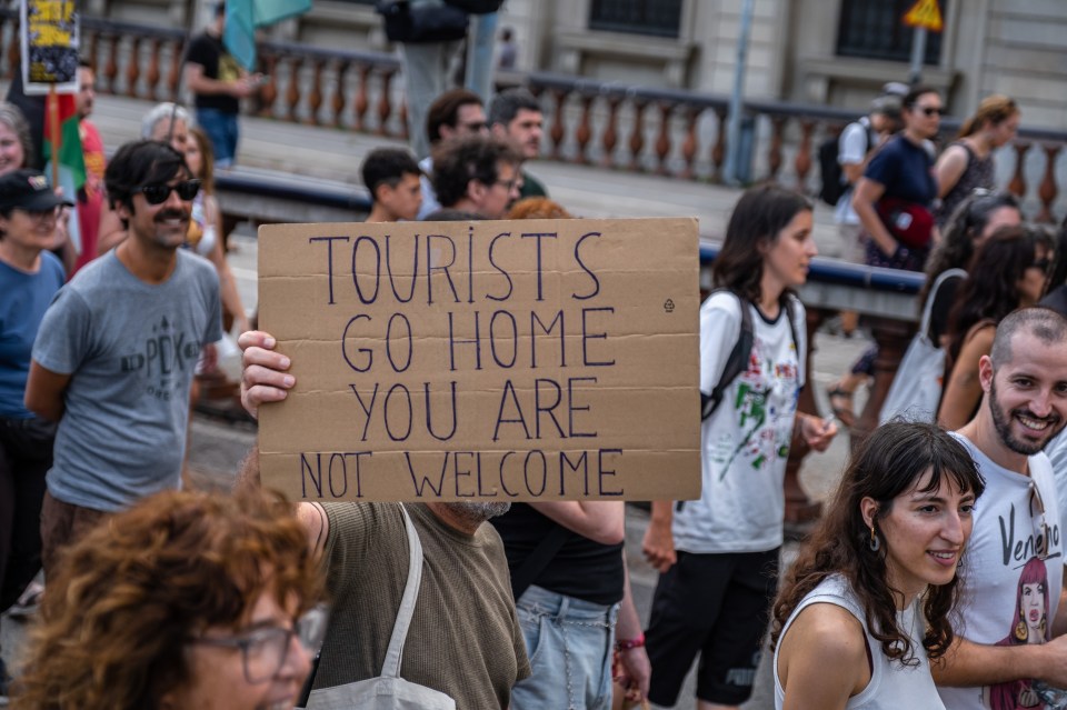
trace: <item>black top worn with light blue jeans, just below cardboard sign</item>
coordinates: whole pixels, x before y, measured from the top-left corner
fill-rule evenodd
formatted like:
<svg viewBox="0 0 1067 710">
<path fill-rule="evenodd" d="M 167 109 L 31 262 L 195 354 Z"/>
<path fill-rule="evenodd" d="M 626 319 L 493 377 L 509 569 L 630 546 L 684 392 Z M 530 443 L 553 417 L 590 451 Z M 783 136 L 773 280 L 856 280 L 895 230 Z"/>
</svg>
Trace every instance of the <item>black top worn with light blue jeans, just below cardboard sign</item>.
<svg viewBox="0 0 1067 710">
<path fill-rule="evenodd" d="M 503 539 L 512 576 L 541 540 L 560 527 L 525 503 L 513 503 L 510 511 L 491 522 Z M 622 599 L 625 573 L 621 542 L 601 544 L 567 531 L 564 546 L 534 583 L 558 594 L 614 604 Z"/>
</svg>

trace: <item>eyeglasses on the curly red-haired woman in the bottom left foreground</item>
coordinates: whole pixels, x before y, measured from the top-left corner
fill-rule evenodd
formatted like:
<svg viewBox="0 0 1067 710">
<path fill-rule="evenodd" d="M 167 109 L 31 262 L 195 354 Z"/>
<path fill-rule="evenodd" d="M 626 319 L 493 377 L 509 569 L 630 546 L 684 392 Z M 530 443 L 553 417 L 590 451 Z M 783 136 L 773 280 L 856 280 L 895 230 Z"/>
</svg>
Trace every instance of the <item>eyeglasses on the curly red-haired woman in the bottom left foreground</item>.
<svg viewBox="0 0 1067 710">
<path fill-rule="evenodd" d="M 328 616 L 327 606 L 318 604 L 297 619 L 291 629 L 266 627 L 238 636 L 199 637 L 189 642 L 240 649 L 245 680 L 252 684 L 262 683 L 275 678 L 286 664 L 292 637 L 297 637 L 310 656 L 319 652 L 326 638 Z"/>
</svg>

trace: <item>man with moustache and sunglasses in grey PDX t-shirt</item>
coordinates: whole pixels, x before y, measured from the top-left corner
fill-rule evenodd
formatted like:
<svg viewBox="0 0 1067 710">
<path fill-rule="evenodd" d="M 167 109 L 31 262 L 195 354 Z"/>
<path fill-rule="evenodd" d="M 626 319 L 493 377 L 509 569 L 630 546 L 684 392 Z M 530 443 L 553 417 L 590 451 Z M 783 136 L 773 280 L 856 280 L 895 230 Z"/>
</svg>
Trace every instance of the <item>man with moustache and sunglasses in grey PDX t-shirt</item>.
<svg viewBox="0 0 1067 710">
<path fill-rule="evenodd" d="M 122 146 L 104 172 L 127 237 L 44 314 L 26 406 L 58 421 L 41 511 L 44 573 L 108 513 L 181 483 L 189 389 L 222 337 L 219 278 L 185 243 L 199 181 L 170 146 Z"/>
</svg>

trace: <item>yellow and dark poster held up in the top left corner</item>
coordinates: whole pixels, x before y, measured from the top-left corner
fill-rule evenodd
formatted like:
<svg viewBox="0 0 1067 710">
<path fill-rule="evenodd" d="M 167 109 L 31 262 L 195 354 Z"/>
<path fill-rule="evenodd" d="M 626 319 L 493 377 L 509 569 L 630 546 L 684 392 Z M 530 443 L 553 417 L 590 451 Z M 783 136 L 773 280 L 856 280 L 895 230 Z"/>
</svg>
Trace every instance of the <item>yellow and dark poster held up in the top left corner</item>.
<svg viewBox="0 0 1067 710">
<path fill-rule="evenodd" d="M 22 0 L 22 90 L 27 94 L 78 90 L 78 9 L 74 0 Z"/>
</svg>

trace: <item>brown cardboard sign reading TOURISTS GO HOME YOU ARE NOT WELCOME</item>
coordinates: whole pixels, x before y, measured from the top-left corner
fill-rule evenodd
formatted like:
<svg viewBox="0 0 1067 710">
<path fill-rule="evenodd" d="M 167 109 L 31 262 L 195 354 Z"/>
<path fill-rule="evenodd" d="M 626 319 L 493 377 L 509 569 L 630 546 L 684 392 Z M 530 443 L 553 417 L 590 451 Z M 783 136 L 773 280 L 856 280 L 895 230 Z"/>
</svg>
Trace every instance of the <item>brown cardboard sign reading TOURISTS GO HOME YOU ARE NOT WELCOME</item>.
<svg viewBox="0 0 1067 710">
<path fill-rule="evenodd" d="M 692 219 L 276 224 L 260 409 L 295 500 L 691 499 L 700 492 Z"/>
</svg>

